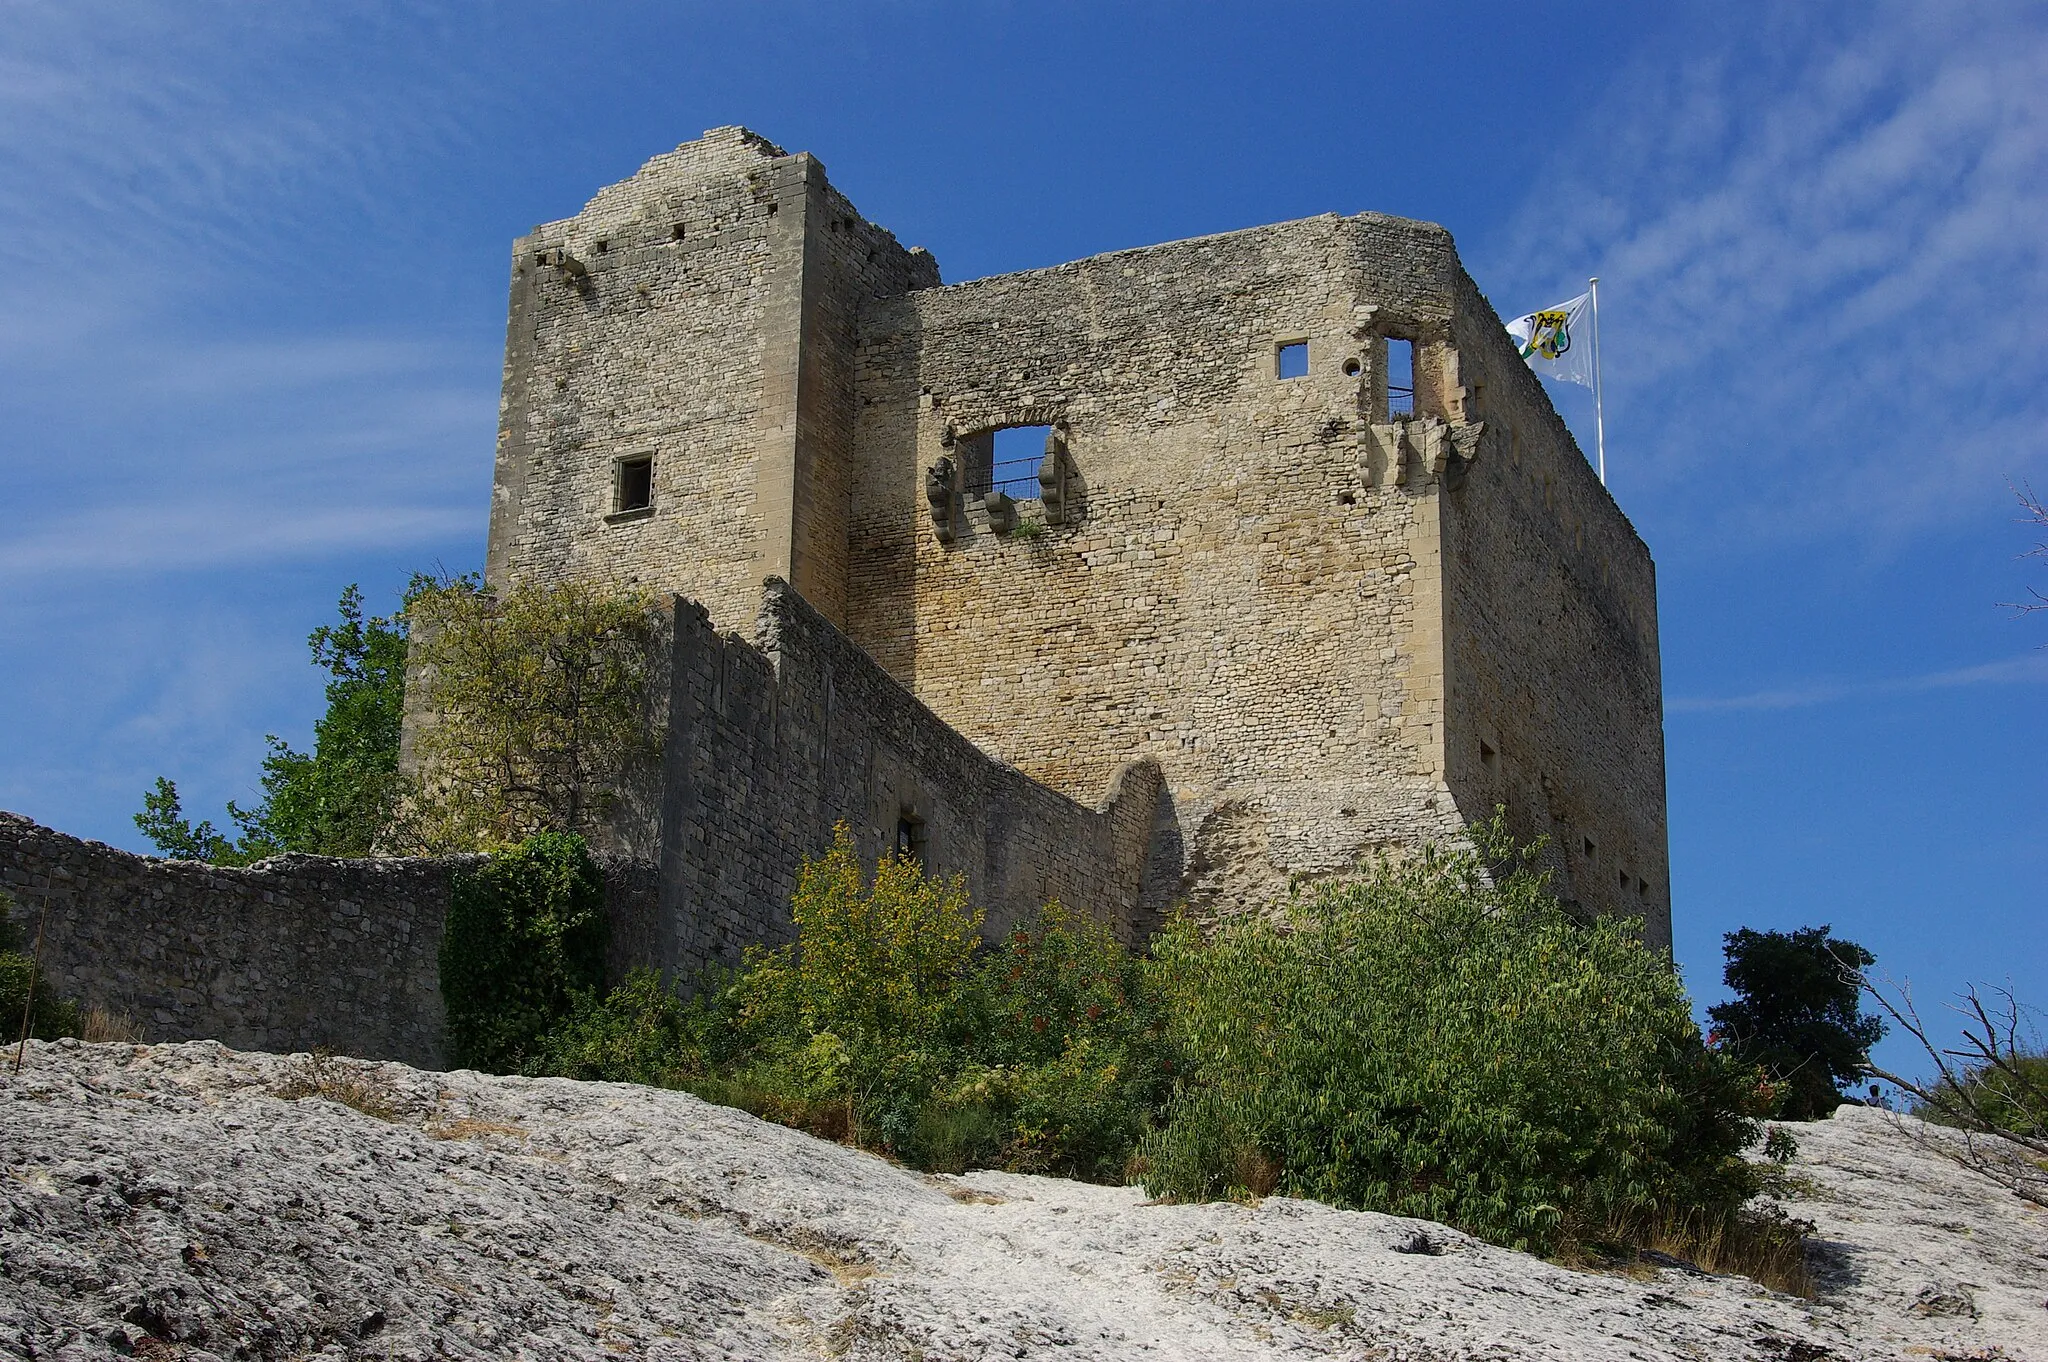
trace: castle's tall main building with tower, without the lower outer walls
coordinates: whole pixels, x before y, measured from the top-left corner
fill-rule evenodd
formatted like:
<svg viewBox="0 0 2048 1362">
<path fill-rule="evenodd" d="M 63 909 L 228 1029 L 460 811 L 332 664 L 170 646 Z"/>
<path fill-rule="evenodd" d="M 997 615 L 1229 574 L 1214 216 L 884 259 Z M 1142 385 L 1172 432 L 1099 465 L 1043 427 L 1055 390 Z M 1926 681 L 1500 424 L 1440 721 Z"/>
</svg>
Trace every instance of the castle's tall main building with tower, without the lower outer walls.
<svg viewBox="0 0 2048 1362">
<path fill-rule="evenodd" d="M 715 129 L 512 270 L 494 582 L 743 631 L 786 580 L 1040 786 L 1108 807 L 1157 770 L 1147 913 L 1505 807 L 1561 893 L 1669 942 L 1655 567 L 1442 227 L 942 287 L 815 158 Z"/>
</svg>

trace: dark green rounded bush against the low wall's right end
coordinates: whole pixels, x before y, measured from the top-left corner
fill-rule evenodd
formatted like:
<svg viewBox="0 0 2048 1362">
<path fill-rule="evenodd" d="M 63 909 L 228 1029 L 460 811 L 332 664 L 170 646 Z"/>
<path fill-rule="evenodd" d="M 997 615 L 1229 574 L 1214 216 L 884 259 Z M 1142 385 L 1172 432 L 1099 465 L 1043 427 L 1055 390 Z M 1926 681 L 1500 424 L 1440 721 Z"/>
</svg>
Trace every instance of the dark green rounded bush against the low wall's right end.
<svg viewBox="0 0 2048 1362">
<path fill-rule="evenodd" d="M 459 1065 L 518 1073 L 604 993 L 604 879 L 584 840 L 543 832 L 455 870 L 440 997 Z"/>
</svg>

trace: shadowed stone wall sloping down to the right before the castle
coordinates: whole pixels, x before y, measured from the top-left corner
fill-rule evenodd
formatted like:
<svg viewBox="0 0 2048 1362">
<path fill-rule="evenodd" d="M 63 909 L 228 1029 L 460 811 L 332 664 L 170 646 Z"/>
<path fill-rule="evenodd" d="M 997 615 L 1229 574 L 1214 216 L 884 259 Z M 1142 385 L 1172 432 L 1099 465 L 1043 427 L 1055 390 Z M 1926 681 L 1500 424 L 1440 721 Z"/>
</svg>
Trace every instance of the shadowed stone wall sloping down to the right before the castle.
<svg viewBox="0 0 2048 1362">
<path fill-rule="evenodd" d="M 948 729 L 782 582 L 756 643 L 678 600 L 668 647 L 659 959 L 737 963 L 788 940 L 801 864 L 840 821 L 872 862 L 909 819 L 926 868 L 967 881 L 989 936 L 1055 897 L 1126 938 L 1151 926 L 1137 897 L 1153 766 L 1100 811 L 1065 799 Z"/>
</svg>

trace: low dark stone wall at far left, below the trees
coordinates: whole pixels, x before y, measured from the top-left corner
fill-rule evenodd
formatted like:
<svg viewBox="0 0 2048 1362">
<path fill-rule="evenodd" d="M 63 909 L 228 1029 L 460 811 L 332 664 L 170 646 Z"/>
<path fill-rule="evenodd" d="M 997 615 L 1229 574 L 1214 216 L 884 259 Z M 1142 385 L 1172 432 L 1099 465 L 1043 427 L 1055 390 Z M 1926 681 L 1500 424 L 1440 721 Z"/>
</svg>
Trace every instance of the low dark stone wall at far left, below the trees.
<svg viewBox="0 0 2048 1362">
<path fill-rule="evenodd" d="M 279 856 L 238 870 L 0 813 L 0 887 L 25 948 L 47 907 L 49 985 L 127 1016 L 147 1040 L 446 1067 L 440 926 L 449 875 L 465 862 Z M 600 866 L 616 977 L 645 959 L 653 866 Z"/>
</svg>

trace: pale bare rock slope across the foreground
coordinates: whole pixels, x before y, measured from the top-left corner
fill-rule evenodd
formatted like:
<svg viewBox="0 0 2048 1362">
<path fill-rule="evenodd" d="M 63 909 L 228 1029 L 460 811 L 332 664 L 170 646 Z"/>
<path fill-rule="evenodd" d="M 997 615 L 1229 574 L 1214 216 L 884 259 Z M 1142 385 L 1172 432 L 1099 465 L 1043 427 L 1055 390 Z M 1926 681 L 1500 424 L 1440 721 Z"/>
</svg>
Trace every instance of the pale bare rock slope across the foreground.
<svg viewBox="0 0 2048 1362">
<path fill-rule="evenodd" d="M 1817 1301 L 928 1178 L 674 1092 L 61 1040 L 0 1067 L 0 1354 L 2048 1362 L 2048 1215 L 1880 1112 L 1798 1137 Z"/>
</svg>

